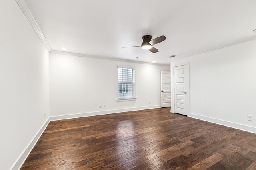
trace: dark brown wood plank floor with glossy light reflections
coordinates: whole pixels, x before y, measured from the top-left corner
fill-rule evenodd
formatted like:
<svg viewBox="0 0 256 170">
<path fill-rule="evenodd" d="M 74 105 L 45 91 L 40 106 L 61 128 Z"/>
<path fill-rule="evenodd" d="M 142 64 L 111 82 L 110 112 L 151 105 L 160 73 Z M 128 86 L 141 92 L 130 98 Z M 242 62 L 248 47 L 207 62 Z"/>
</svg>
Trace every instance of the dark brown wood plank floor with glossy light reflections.
<svg viewBox="0 0 256 170">
<path fill-rule="evenodd" d="M 256 134 L 150 109 L 51 121 L 21 170 L 255 170 Z"/>
</svg>

